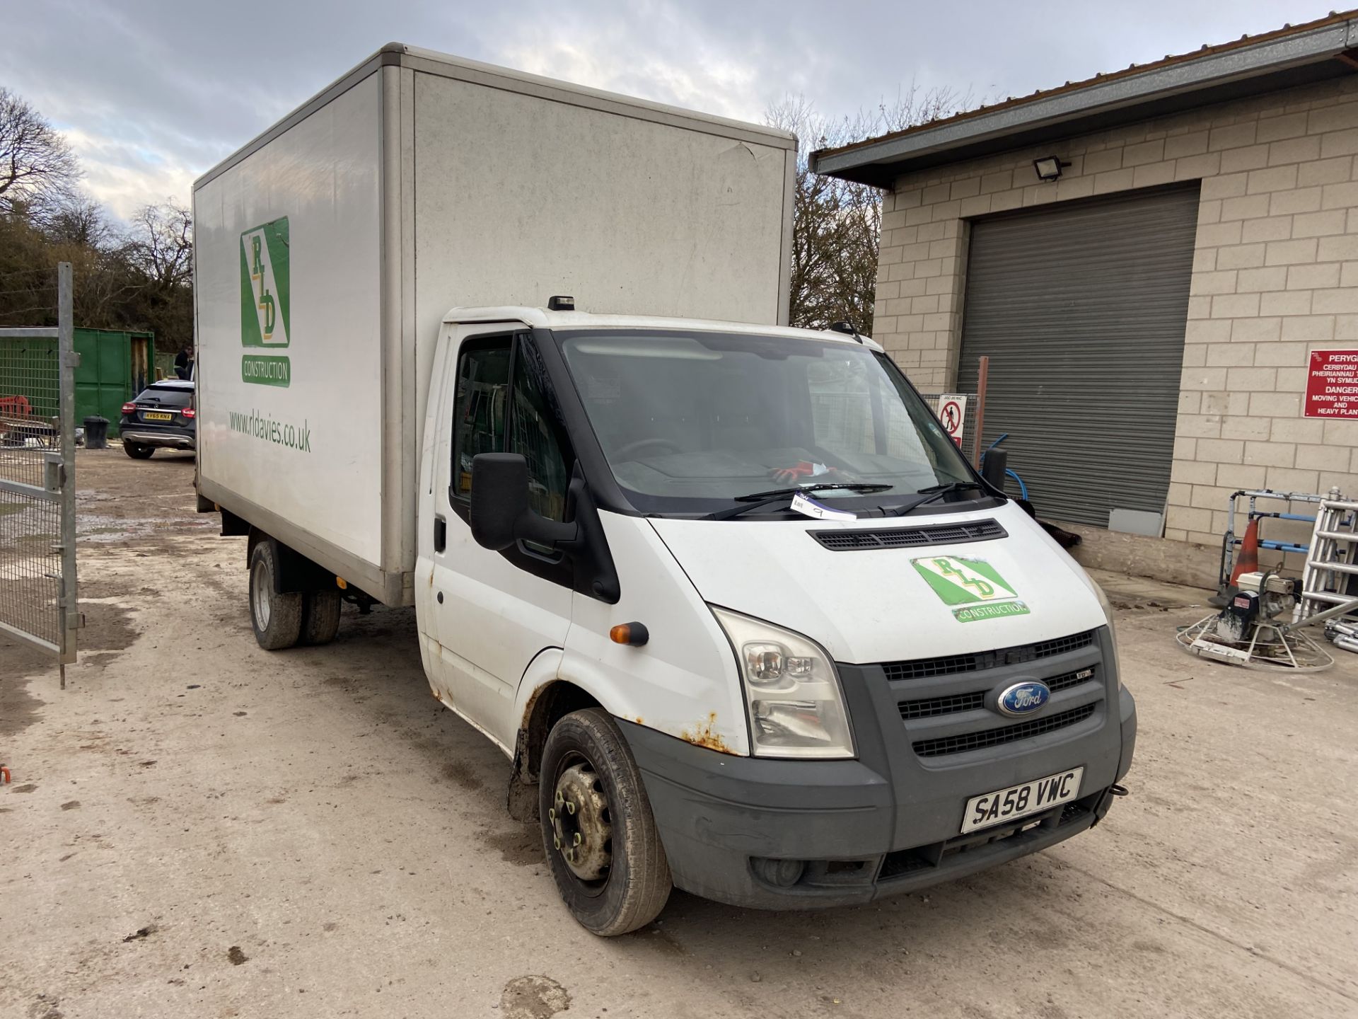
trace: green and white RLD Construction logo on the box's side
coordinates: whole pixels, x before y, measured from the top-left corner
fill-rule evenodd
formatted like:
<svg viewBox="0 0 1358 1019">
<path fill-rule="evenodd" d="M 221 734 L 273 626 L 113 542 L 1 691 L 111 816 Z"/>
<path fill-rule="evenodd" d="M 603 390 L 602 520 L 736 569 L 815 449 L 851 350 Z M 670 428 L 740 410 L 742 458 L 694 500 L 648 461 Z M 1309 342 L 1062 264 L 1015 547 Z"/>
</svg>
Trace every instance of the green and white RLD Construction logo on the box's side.
<svg viewBox="0 0 1358 1019">
<path fill-rule="evenodd" d="M 240 235 L 240 344 L 287 348 L 292 311 L 288 217 Z M 240 378 L 261 386 L 287 386 L 292 365 L 285 356 L 247 353 Z"/>
</svg>

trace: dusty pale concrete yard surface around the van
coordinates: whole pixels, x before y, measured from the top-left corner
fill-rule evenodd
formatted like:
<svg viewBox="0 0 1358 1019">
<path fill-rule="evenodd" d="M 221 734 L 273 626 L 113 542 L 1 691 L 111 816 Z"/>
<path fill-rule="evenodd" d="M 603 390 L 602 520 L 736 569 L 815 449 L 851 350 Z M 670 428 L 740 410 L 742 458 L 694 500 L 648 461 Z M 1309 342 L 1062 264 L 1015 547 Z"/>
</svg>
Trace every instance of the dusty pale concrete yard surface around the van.
<svg viewBox="0 0 1358 1019">
<path fill-rule="evenodd" d="M 602 940 L 413 610 L 261 651 L 193 461 L 83 451 L 68 689 L 0 640 L 0 1016 L 1358 1015 L 1358 656 L 1183 654 L 1206 592 L 1100 575 L 1141 731 L 1071 841 L 826 913 L 675 893 Z"/>
</svg>

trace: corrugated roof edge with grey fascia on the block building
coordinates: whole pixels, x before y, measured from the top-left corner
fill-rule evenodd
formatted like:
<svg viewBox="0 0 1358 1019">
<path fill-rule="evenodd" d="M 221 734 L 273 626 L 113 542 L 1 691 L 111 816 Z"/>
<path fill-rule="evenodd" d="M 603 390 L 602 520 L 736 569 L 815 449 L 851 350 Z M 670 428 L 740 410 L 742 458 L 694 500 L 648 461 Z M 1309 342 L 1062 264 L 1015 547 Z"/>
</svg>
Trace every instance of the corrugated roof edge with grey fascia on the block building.
<svg viewBox="0 0 1358 1019">
<path fill-rule="evenodd" d="M 819 174 L 888 186 L 910 170 L 1019 148 L 1358 68 L 1358 10 L 1066 82 L 904 130 L 811 154 Z"/>
</svg>

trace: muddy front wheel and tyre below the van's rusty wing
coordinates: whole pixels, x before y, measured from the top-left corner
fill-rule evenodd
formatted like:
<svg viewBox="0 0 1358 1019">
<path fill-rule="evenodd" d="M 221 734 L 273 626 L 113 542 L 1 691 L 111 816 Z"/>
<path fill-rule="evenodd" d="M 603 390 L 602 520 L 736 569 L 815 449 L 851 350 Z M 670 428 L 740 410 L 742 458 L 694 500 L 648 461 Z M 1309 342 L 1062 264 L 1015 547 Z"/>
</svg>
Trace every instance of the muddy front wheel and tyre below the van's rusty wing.
<svg viewBox="0 0 1358 1019">
<path fill-rule="evenodd" d="M 562 717 L 547 735 L 538 804 L 543 849 L 574 918 L 602 937 L 655 920 L 672 879 L 641 772 L 602 708 Z"/>
</svg>

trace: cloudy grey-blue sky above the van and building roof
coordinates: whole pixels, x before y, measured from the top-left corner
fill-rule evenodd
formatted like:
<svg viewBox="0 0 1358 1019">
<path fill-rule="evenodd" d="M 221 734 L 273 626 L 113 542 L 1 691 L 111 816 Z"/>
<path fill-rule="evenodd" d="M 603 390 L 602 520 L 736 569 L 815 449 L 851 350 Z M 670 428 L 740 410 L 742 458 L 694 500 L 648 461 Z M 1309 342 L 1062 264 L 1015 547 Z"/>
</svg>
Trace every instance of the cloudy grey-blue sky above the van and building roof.
<svg viewBox="0 0 1358 1019">
<path fill-rule="evenodd" d="M 0 86 L 64 130 L 118 216 L 194 177 L 390 41 L 759 120 L 914 82 L 1021 95 L 1324 16 L 1332 0 L 0 0 Z"/>
</svg>

